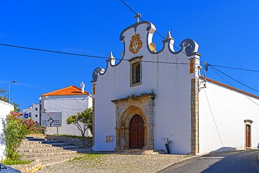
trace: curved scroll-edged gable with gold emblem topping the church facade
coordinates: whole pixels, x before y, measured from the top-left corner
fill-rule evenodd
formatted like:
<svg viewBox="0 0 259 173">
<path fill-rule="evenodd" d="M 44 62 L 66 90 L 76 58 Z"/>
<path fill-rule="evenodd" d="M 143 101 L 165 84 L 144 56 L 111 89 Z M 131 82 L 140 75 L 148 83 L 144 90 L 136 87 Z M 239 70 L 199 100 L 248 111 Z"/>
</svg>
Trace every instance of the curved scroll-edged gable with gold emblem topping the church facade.
<svg viewBox="0 0 259 173">
<path fill-rule="evenodd" d="M 200 55 L 198 53 L 199 45 L 193 39 L 185 39 L 180 43 L 181 48 L 178 51 L 174 50 L 174 39 L 171 34 L 168 33 L 167 37 L 162 41 L 163 47 L 161 50 L 155 50 L 155 43 L 152 42 L 153 34 L 155 33 L 155 25 L 151 22 L 143 21 L 134 23 L 123 30 L 120 33 L 120 41 L 123 42 L 124 51 L 123 57 L 119 62 L 115 63 L 115 58 L 110 56 L 106 60 L 106 68 L 97 67 L 92 72 L 92 83 L 97 82 L 99 75 L 104 75 L 108 70 L 108 67 L 116 67 L 124 60 L 128 60 L 130 56 L 139 56 L 139 55 L 159 55 L 164 51 L 168 51 L 172 55 L 177 55 L 180 53 L 185 54 L 190 57 L 192 55 Z M 129 59 L 130 60 L 130 59 Z"/>
</svg>

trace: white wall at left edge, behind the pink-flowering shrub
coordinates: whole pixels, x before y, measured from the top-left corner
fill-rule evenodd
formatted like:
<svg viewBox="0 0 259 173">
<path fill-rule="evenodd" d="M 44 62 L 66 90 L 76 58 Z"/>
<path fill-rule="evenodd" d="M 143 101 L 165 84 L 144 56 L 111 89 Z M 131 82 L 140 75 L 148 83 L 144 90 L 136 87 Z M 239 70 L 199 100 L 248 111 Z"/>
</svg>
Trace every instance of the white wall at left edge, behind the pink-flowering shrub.
<svg viewBox="0 0 259 173">
<path fill-rule="evenodd" d="M 3 155 L 3 151 L 6 148 L 6 144 L 3 140 L 3 120 L 6 120 L 6 116 L 8 115 L 8 113 L 10 113 L 10 111 L 13 111 L 14 107 L 13 104 L 8 104 L 6 102 L 3 102 L 0 100 L 0 158 L 2 158 Z"/>
</svg>

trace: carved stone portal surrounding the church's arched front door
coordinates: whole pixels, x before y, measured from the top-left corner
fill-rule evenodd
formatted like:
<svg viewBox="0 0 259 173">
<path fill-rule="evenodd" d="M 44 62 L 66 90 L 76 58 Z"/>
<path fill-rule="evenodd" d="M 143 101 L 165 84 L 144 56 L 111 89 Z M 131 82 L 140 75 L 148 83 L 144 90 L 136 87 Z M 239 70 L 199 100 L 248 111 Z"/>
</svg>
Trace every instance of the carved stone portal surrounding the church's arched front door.
<svg viewBox="0 0 259 173">
<path fill-rule="evenodd" d="M 153 95 L 112 100 L 116 104 L 116 151 L 130 148 L 130 121 L 135 115 L 144 120 L 144 147 L 154 149 L 155 102 Z"/>
</svg>

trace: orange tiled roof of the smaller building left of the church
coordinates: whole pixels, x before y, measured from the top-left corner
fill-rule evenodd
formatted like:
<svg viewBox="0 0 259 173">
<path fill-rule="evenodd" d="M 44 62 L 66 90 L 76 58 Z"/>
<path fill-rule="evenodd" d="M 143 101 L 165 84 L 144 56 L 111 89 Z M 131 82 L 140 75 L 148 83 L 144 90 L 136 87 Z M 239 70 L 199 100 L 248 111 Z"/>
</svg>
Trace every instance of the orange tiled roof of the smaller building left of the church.
<svg viewBox="0 0 259 173">
<path fill-rule="evenodd" d="M 52 92 L 47 92 L 45 94 L 42 94 L 41 96 L 44 97 L 50 95 L 89 95 L 89 92 L 81 92 L 80 88 L 76 87 L 75 85 L 71 85 L 66 88 L 62 88 Z"/>
</svg>

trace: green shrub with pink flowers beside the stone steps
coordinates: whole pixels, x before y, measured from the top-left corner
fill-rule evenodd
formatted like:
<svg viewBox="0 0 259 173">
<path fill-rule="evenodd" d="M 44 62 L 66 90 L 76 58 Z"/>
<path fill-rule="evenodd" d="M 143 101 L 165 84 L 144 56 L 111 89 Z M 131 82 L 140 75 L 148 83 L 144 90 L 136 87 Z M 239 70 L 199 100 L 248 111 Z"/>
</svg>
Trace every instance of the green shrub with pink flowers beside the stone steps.
<svg viewBox="0 0 259 173">
<path fill-rule="evenodd" d="M 37 132 L 39 128 L 31 118 L 19 118 L 18 112 L 10 112 L 6 116 L 6 123 L 3 126 L 6 160 L 18 160 L 20 155 L 17 150 L 22 143 L 22 139 L 25 139 L 27 134 L 31 132 Z"/>
</svg>

